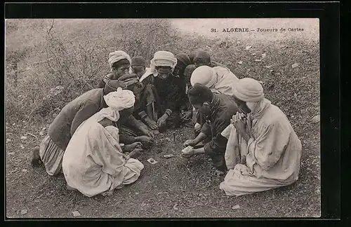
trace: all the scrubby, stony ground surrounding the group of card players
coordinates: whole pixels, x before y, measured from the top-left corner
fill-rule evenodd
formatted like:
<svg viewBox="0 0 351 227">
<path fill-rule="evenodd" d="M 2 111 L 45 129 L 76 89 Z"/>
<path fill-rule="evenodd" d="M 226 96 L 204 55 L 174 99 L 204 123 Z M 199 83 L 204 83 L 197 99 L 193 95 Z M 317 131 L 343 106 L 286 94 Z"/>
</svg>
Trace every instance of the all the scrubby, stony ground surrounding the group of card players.
<svg viewBox="0 0 351 227">
<path fill-rule="evenodd" d="M 219 189 L 223 178 L 214 176 L 207 158 L 192 158 L 189 171 L 179 165 L 181 144 L 192 137 L 188 128 L 176 130 L 176 143 L 172 132 L 158 135 L 140 159 L 145 165 L 140 179 L 109 197 L 67 191 L 63 176 L 50 177 L 29 165 L 30 149 L 46 133 L 39 132 L 107 74 L 108 53 L 124 50 L 150 62 L 157 50 L 199 49 L 239 78 L 264 82 L 266 97 L 286 113 L 303 144 L 296 184 L 227 197 Z M 74 211 L 87 218 L 320 215 L 319 123 L 311 121 L 319 114 L 319 42 L 314 39 L 210 39 L 182 34 L 166 20 L 6 20 L 5 94 L 8 217 L 72 217 Z M 176 157 L 163 158 L 169 153 Z M 159 163 L 147 163 L 151 157 Z M 241 208 L 231 209 L 234 205 Z"/>
</svg>

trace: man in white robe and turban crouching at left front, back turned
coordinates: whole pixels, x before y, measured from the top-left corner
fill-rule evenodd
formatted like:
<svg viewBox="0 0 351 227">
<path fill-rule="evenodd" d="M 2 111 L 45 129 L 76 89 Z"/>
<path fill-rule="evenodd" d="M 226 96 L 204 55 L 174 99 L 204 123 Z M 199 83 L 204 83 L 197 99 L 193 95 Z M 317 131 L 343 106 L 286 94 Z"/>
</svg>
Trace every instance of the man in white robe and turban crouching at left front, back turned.
<svg viewBox="0 0 351 227">
<path fill-rule="evenodd" d="M 121 119 L 126 121 L 133 112 L 133 92 L 119 88 L 104 99 L 109 107 L 79 125 L 62 160 L 67 188 L 88 197 L 132 184 L 144 168 L 143 163 L 131 158 L 139 152 L 137 149 L 127 156 L 123 153 L 115 125 Z"/>
</svg>

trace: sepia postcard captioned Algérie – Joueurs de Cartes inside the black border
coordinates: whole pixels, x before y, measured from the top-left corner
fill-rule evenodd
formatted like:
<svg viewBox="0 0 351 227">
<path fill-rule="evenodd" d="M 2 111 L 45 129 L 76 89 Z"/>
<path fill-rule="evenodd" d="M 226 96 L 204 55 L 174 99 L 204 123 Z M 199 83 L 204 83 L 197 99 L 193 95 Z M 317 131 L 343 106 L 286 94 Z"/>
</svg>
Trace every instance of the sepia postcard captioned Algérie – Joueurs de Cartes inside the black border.
<svg viewBox="0 0 351 227">
<path fill-rule="evenodd" d="M 5 38 L 8 218 L 321 215 L 319 19 L 8 19 Z"/>
</svg>

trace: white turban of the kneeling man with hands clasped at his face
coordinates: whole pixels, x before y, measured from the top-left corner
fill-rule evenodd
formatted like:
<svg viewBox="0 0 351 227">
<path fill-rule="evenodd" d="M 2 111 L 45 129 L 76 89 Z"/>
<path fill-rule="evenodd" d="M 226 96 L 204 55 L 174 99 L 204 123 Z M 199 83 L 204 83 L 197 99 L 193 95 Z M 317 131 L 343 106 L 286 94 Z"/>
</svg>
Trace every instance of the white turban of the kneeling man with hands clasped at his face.
<svg viewBox="0 0 351 227">
<path fill-rule="evenodd" d="M 244 102 L 258 102 L 262 100 L 263 87 L 253 78 L 242 78 L 234 84 L 234 96 Z"/>
</svg>

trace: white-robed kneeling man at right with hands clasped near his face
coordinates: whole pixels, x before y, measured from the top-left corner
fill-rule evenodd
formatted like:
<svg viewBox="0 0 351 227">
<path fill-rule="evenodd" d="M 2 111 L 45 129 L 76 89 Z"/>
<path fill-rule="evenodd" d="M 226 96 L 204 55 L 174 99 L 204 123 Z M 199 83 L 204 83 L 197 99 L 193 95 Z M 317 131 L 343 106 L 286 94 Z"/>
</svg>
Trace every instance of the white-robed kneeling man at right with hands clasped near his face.
<svg viewBox="0 0 351 227">
<path fill-rule="evenodd" d="M 252 78 L 234 85 L 237 113 L 222 135 L 230 169 L 220 184 L 227 195 L 247 195 L 293 184 L 300 170 L 301 142 L 285 114 L 264 98 Z M 245 116 L 247 115 L 247 116 Z"/>
</svg>

